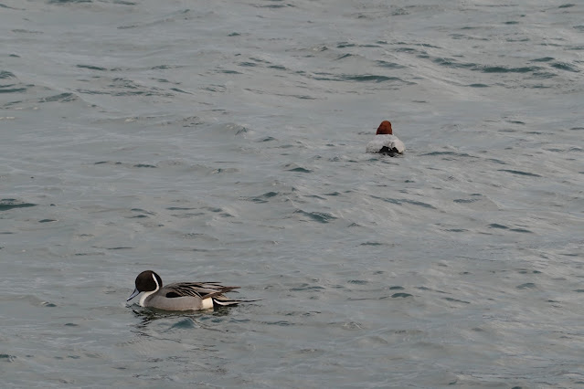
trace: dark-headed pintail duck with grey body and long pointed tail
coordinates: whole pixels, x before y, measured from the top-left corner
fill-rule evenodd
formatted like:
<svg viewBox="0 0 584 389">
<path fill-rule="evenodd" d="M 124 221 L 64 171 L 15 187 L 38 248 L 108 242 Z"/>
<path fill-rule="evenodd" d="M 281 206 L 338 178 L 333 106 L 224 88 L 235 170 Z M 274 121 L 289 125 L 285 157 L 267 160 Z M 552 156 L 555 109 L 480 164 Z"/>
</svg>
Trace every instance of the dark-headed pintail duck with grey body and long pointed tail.
<svg viewBox="0 0 584 389">
<path fill-rule="evenodd" d="M 224 287 L 218 282 L 176 282 L 163 287 L 162 279 L 152 270 L 138 274 L 135 284 L 136 288 L 126 301 L 144 292 L 140 305 L 158 310 L 207 310 L 251 301 L 229 299 L 223 293 L 239 287 Z"/>
</svg>

